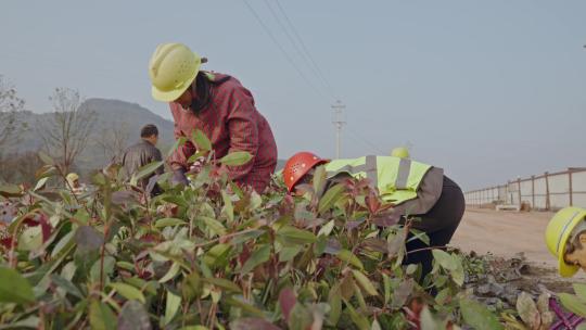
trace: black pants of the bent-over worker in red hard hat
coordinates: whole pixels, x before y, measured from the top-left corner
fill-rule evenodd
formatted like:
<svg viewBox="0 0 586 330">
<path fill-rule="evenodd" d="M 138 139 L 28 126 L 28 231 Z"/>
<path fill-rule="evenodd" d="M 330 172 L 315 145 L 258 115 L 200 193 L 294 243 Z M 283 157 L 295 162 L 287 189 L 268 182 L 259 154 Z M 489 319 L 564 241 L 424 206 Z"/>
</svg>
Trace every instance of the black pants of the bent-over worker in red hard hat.
<svg viewBox="0 0 586 330">
<path fill-rule="evenodd" d="M 445 246 L 449 243 L 462 219 L 464 208 L 462 190 L 456 182 L 444 176 L 440 199 L 426 214 L 416 215 L 415 217 L 419 217 L 421 220 L 415 221 L 412 226 L 412 228 L 424 231 L 429 236 L 430 245 L 416 239 L 407 243 L 407 252 L 430 246 Z M 408 239 L 411 237 L 412 233 L 409 234 Z M 432 270 L 432 252 L 424 250 L 408 253 L 405 264 L 421 264 L 423 270 L 421 278 L 423 279 Z"/>
</svg>

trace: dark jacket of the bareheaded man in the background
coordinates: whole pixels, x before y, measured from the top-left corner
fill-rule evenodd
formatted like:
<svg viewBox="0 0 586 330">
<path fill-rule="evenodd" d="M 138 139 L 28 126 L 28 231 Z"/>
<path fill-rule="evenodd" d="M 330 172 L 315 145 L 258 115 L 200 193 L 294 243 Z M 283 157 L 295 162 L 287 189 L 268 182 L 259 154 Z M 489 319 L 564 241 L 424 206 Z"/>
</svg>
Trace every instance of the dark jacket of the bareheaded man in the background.
<svg viewBox="0 0 586 330">
<path fill-rule="evenodd" d="M 122 163 L 128 178 L 132 176 L 140 167 L 152 163 L 163 161 L 161 151 L 151 142 L 140 140 L 140 142 L 130 145 L 123 155 Z M 158 167 L 152 175 L 140 180 L 139 185 L 144 189 L 149 183 L 149 179 L 154 175 L 161 175 L 164 172 L 163 165 Z"/>
</svg>

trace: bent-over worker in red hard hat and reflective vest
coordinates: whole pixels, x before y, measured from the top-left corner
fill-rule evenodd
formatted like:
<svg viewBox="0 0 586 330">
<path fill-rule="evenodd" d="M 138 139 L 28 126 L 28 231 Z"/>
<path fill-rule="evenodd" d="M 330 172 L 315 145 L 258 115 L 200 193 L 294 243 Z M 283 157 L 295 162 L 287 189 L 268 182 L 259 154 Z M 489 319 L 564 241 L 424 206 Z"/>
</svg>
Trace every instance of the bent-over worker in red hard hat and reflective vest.
<svg viewBox="0 0 586 330">
<path fill-rule="evenodd" d="M 430 244 L 419 239 L 408 240 L 405 263 L 421 264 L 422 278 L 431 272 L 433 256 L 429 248 L 445 246 L 464 212 L 460 187 L 446 177 L 442 168 L 394 156 L 329 161 L 310 152 L 300 152 L 286 161 L 283 169 L 288 190 L 295 193 L 296 186 L 311 182 L 315 168 L 320 165 L 326 167 L 330 185 L 348 177 L 368 178 L 383 202 L 394 205 L 395 216 L 421 218 L 412 223 L 412 228 L 424 231 Z"/>
</svg>

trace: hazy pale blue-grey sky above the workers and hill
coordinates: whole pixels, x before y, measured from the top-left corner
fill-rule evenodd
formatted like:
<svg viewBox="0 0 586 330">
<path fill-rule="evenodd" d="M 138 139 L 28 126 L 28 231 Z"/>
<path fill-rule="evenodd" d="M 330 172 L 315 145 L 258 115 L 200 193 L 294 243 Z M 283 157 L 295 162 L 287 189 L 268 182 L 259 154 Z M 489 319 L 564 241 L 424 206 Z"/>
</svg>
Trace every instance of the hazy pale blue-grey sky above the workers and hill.
<svg viewBox="0 0 586 330">
<path fill-rule="evenodd" d="M 254 93 L 280 158 L 334 155 L 335 97 L 343 156 L 409 143 L 464 189 L 586 166 L 586 1 L 279 0 L 331 91 L 277 2 L 247 3 L 297 68 L 243 0 L 17 0 L 0 4 L 0 74 L 35 112 L 72 87 L 170 118 L 146 67 L 157 43 L 179 41 Z"/>
</svg>

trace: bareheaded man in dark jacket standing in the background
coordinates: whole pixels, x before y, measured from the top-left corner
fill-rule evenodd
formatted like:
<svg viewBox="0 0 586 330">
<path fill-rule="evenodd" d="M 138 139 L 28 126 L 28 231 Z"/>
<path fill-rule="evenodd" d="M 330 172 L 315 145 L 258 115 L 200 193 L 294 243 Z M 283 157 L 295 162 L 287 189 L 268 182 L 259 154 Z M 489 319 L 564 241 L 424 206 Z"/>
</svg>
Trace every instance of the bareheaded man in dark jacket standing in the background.
<svg viewBox="0 0 586 330">
<path fill-rule="evenodd" d="M 153 124 L 148 124 L 140 129 L 140 141 L 130 145 L 123 154 L 122 164 L 128 178 L 139 170 L 144 165 L 153 162 L 163 161 L 161 151 L 156 148 L 158 142 L 158 128 Z M 154 173 L 142 178 L 138 185 L 142 189 L 146 189 L 149 180 L 156 176 L 162 175 L 164 166 L 157 167 Z M 153 185 L 151 191 L 153 195 L 161 193 L 158 186 Z"/>
</svg>

